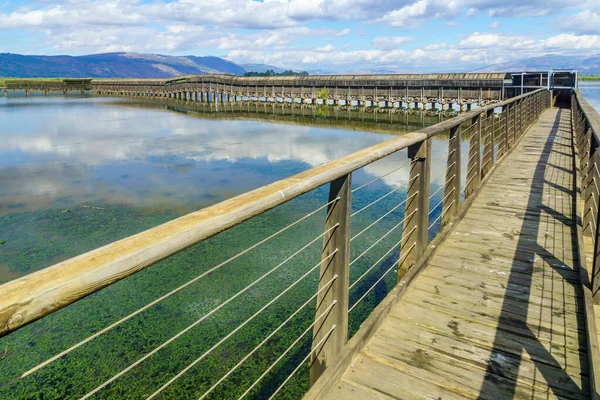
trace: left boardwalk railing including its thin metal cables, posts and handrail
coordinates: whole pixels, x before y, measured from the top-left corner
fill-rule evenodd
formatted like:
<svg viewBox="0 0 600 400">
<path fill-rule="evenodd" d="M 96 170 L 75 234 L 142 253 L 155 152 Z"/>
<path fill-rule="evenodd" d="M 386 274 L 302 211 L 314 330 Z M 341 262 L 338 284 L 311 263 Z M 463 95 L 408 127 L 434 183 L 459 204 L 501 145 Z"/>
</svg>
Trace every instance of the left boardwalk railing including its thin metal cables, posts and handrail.
<svg viewBox="0 0 600 400">
<path fill-rule="evenodd" d="M 268 344 L 284 329 L 294 324 L 300 324 L 302 332 L 294 335 L 295 339 L 291 344 L 276 355 L 277 358 L 269 362 L 264 371 L 257 371 L 258 376 L 252 380 L 249 387 L 239 388 L 238 393 L 243 391 L 239 398 L 244 398 L 257 390 L 269 374 L 276 373 L 277 366 L 281 366 L 283 360 L 289 357 L 294 349 L 308 345 L 310 345 L 308 354 L 301 355 L 302 361 L 285 376 L 285 379 L 281 377 L 279 385 L 268 393 L 268 396 L 272 398 L 280 393 L 285 384 L 305 366 L 307 360 L 309 365 L 306 368 L 310 375 L 310 382 L 314 383 L 335 361 L 348 341 L 349 314 L 356 310 L 359 304 L 366 304 L 365 299 L 374 293 L 377 285 L 384 280 L 386 285 L 389 284 L 392 280 L 390 275 L 392 271 L 396 271 L 395 281 L 400 282 L 408 271 L 419 264 L 428 248 L 431 229 L 439 224 L 443 231 L 448 224 L 458 218 L 464 203 L 461 192 L 464 192 L 464 199 L 476 193 L 493 165 L 514 147 L 526 127 L 531 125 L 548 106 L 548 97 L 549 92 L 540 89 L 502 103 L 460 114 L 437 125 L 377 144 L 0 286 L 0 292 L 3 293 L 0 296 L 0 335 L 5 336 L 201 243 L 219 232 L 301 195 L 316 191 L 324 185 L 329 187 L 328 198 L 324 204 L 301 213 L 300 217 L 284 227 L 266 235 L 263 239 L 253 241 L 253 244 L 227 257 L 224 261 L 215 263 L 202 273 L 192 275 L 191 279 L 176 285 L 161 296 L 142 303 L 135 310 L 124 313 L 125 316 L 97 329 L 68 348 L 58 351 L 35 366 L 26 368 L 26 371 L 16 380 L 35 375 L 59 360 L 68 360 L 67 356 L 75 350 L 85 350 L 86 345 L 100 336 L 159 306 L 161 302 L 173 298 L 174 295 L 200 282 L 203 278 L 223 270 L 232 262 L 240 262 L 241 257 L 248 256 L 250 252 L 260 255 L 261 250 L 264 251 L 264 246 L 275 245 L 281 235 L 293 233 L 291 228 L 300 227 L 309 219 L 311 221 L 319 219 L 318 223 L 322 223 L 324 228 L 320 232 L 312 232 L 313 234 L 308 235 L 306 240 L 299 236 L 295 237 L 293 249 L 290 254 L 282 257 L 282 260 L 273 262 L 275 265 L 261 267 L 260 273 L 253 275 L 248 282 L 244 281 L 243 287 L 240 285 L 240 289 L 236 289 L 234 293 L 224 294 L 217 305 L 210 307 L 191 323 L 182 324 L 181 328 L 174 329 L 173 334 L 165 335 L 164 340 L 158 340 L 149 349 L 140 351 L 135 358 L 118 368 L 118 372 L 98 379 L 98 383 L 94 386 L 85 388 L 82 392 L 84 394 L 74 394 L 74 396 L 88 399 L 104 390 L 109 390 L 109 387 L 115 385 L 117 381 L 126 384 L 127 381 L 124 379 L 126 374 L 138 371 L 138 367 L 147 363 L 147 360 L 168 346 L 179 343 L 184 335 L 189 336 L 192 329 L 203 326 L 225 307 L 243 301 L 245 297 L 242 296 L 257 290 L 259 284 L 263 285 L 267 279 L 280 279 L 284 267 L 291 268 L 290 266 L 295 271 L 294 277 L 289 277 L 290 282 L 277 288 L 274 294 L 268 296 L 268 299 L 263 302 L 264 304 L 261 303 L 256 310 L 248 312 L 248 316 L 239 315 L 239 321 L 235 325 L 222 332 L 213 342 L 206 343 L 207 348 L 202 349 L 198 354 L 190 355 L 186 365 L 169 372 L 170 376 L 161 375 L 161 382 L 145 394 L 145 398 L 152 399 L 168 393 L 167 390 L 184 379 L 184 376 L 190 375 L 190 371 L 209 359 L 215 352 L 220 351 L 219 349 L 226 344 L 233 343 L 237 335 L 246 327 L 265 314 L 273 313 L 274 307 L 286 301 L 287 297 L 284 296 L 296 293 L 300 286 L 306 287 L 308 284 L 314 284 L 314 290 L 311 290 L 308 295 L 304 292 L 298 306 L 286 312 L 286 315 L 280 316 L 273 326 L 265 328 L 262 336 L 256 338 L 257 343 L 248 345 L 242 354 L 236 356 L 226 371 L 207 384 L 207 388 L 199 398 L 204 399 L 215 395 L 218 390 L 221 390 L 221 386 L 235 373 L 239 373 L 249 360 L 268 347 Z M 497 107 L 503 108 L 501 114 L 494 114 Z M 530 114 L 517 122 L 516 116 L 526 110 Z M 484 120 L 485 123 L 482 124 Z M 514 127 L 512 136 L 511 121 Z M 463 129 L 463 126 L 466 127 Z M 446 136 L 440 134 L 446 132 L 447 140 L 443 143 L 447 146 L 447 152 L 444 150 L 443 156 L 434 159 L 433 138 L 443 136 L 445 139 Z M 466 157 L 462 156 L 463 134 L 469 141 Z M 499 149 L 497 155 L 494 152 L 496 145 Z M 402 163 L 352 188 L 352 176 L 355 171 L 404 149 L 407 150 L 409 159 L 407 163 Z M 438 150 L 440 149 L 436 148 L 435 153 L 438 153 Z M 435 171 L 432 176 L 432 170 L 438 167 L 440 167 L 439 171 Z M 382 194 L 377 194 L 366 205 L 352 212 L 353 195 L 366 193 L 361 192 L 361 189 L 402 169 L 407 170 L 408 178 L 402 178 L 403 181 L 398 185 L 385 185 L 391 188 L 386 189 Z M 465 185 L 461 184 L 463 169 L 467 172 Z M 432 182 L 436 184 L 443 182 L 443 184 L 432 190 Z M 379 189 L 375 192 L 379 193 Z M 394 195 L 400 196 L 402 200 L 397 201 Z M 596 208 L 594 211 L 597 215 L 597 205 L 594 204 L 593 207 Z M 371 208 L 377 212 L 385 209 L 385 212 L 379 216 L 371 215 L 376 214 L 375 212 L 365 212 Z M 324 221 L 321 221 L 322 218 Z M 353 224 L 355 229 L 357 226 L 364 228 L 352 235 Z M 366 232 L 369 234 L 365 235 Z M 358 242 L 366 248 L 359 248 L 358 242 L 355 242 L 361 237 L 361 241 Z M 314 247 L 319 245 L 321 245 L 320 255 L 317 256 L 319 261 L 316 264 L 314 261 L 309 264 L 305 258 L 299 259 L 304 257 L 305 253 L 314 252 Z M 354 250 L 358 253 L 355 253 L 352 259 L 351 246 L 355 246 Z M 319 270 L 318 276 L 316 276 L 317 270 Z M 356 278 L 351 280 L 351 274 Z M 236 277 L 232 276 L 230 279 Z M 351 298 L 356 301 L 350 305 Z M 370 300 L 369 304 L 371 304 Z M 314 305 L 315 311 L 310 323 L 306 323 L 305 315 L 311 305 Z M 366 308 L 361 306 L 360 309 L 358 314 Z M 358 318 L 356 315 L 357 312 L 354 312 L 353 318 Z M 306 336 L 311 331 L 312 338 L 307 339 Z M 294 362 L 296 361 L 297 359 Z M 285 361 L 291 368 L 290 362 L 291 359 Z"/>
</svg>

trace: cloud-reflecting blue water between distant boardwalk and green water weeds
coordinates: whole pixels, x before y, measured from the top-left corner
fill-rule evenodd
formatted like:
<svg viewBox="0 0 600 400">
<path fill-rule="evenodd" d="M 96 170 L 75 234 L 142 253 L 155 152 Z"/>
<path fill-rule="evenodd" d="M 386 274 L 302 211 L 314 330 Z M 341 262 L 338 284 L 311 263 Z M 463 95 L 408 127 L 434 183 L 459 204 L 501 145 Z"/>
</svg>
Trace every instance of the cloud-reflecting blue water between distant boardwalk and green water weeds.
<svg viewBox="0 0 600 400">
<path fill-rule="evenodd" d="M 0 100 L 0 215 L 82 203 L 191 211 L 390 138 L 122 103 Z"/>
</svg>

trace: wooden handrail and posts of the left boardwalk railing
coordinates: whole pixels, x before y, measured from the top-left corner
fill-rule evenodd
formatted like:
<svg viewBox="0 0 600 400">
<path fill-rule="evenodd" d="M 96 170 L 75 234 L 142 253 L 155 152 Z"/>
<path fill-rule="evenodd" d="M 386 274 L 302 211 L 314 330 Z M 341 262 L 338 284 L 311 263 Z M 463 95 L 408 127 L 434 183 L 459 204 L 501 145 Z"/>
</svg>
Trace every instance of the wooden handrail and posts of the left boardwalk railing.
<svg viewBox="0 0 600 400">
<path fill-rule="evenodd" d="M 320 268 L 321 273 L 319 287 L 315 293 L 317 309 L 312 324 L 313 344 L 312 351 L 306 357 L 311 360 L 311 382 L 315 382 L 346 344 L 348 313 L 356 306 L 355 303 L 349 307 L 351 207 L 352 193 L 356 190 L 352 189 L 353 172 L 402 149 L 408 150 L 410 159 L 408 193 L 403 204 L 400 204 L 405 205 L 405 212 L 403 220 L 399 222 L 402 224 L 400 258 L 394 266 L 398 269 L 397 278 L 400 280 L 426 253 L 431 226 L 439 221 L 443 230 L 444 227 L 454 223 L 461 209 L 461 202 L 476 193 L 484 177 L 493 170 L 493 165 L 506 156 L 527 127 L 549 107 L 550 102 L 550 92 L 540 89 L 479 108 L 6 283 L 0 286 L 0 336 L 18 330 L 221 231 L 329 184 L 329 200 L 322 207 L 327 209 L 325 230 L 317 237 L 317 239 L 323 238 L 324 244 L 321 263 L 315 266 Z M 449 135 L 445 160 L 444 196 L 440 202 L 442 211 L 437 220 L 431 223 L 429 187 L 432 139 L 444 132 L 448 132 Z M 470 137 L 466 162 L 462 161 L 466 157 L 461 157 L 460 143 L 463 135 Z M 466 169 L 464 187 L 461 186 L 462 168 Z M 373 224 L 377 222 L 374 221 Z M 386 274 L 390 271 L 391 269 Z M 202 274 L 205 275 L 206 273 Z M 130 316 L 144 311 L 165 296 Z M 262 312 L 267 306 L 258 312 Z M 202 319 L 199 320 L 201 321 Z M 118 323 L 120 321 L 116 324 Z M 105 328 L 86 341 L 114 326 L 115 324 Z M 42 363 L 39 368 L 64 354 L 66 353 L 63 352 Z M 130 368 L 143 360 L 145 357 L 132 364 Z M 36 367 L 34 370 L 39 368 Z M 187 369 L 182 373 L 185 371 Z M 117 379 L 120 374 L 115 375 L 105 385 Z M 178 374 L 173 379 L 179 376 Z M 105 385 L 97 387 L 84 398 L 101 390 Z M 160 390 L 162 387 L 157 392 Z"/>
</svg>

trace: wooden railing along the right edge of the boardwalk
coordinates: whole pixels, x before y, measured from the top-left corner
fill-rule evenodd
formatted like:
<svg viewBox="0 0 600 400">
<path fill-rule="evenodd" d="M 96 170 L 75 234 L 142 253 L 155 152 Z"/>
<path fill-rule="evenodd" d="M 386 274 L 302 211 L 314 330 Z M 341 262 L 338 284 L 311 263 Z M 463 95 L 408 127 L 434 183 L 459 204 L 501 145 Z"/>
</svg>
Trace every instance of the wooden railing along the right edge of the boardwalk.
<svg viewBox="0 0 600 400">
<path fill-rule="evenodd" d="M 600 115 L 588 104 L 581 92 L 571 94 L 573 134 L 579 154 L 581 171 L 581 198 L 583 234 L 591 238 L 593 260 L 591 265 L 591 291 L 596 304 L 600 304 Z M 590 249 L 591 250 L 591 249 Z"/>
</svg>

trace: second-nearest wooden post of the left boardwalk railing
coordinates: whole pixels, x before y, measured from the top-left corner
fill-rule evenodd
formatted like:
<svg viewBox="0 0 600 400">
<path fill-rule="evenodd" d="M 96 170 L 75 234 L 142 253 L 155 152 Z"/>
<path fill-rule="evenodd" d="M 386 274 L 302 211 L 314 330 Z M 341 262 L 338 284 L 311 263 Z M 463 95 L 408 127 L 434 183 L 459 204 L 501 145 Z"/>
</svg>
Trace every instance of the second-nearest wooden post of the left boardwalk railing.
<svg viewBox="0 0 600 400">
<path fill-rule="evenodd" d="M 427 248 L 431 139 L 410 146 L 408 157 L 411 159 L 410 177 L 402 227 L 398 281 L 415 265 Z"/>
</svg>

